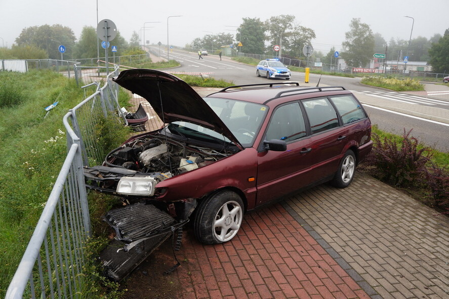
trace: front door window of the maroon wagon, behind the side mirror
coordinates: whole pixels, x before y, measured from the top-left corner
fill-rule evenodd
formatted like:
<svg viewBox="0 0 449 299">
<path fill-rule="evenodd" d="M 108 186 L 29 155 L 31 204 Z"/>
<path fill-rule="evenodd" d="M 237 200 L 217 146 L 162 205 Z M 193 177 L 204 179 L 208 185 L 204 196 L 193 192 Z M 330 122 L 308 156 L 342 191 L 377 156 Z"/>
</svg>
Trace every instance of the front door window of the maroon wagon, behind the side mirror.
<svg viewBox="0 0 449 299">
<path fill-rule="evenodd" d="M 274 111 L 268 125 L 267 140 L 292 141 L 306 135 L 306 126 L 299 103 L 280 106 Z"/>
</svg>

